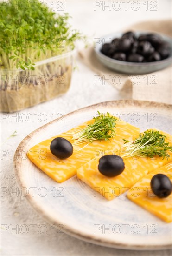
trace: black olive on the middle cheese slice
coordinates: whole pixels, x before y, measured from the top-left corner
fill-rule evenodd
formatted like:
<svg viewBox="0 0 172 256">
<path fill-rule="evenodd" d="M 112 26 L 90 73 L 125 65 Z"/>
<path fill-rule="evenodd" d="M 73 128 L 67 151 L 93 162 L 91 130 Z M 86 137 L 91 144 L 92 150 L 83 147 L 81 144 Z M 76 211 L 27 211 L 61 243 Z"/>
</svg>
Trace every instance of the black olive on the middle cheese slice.
<svg viewBox="0 0 172 256">
<path fill-rule="evenodd" d="M 123 159 L 118 155 L 104 155 L 99 159 L 98 169 L 102 175 L 115 177 L 125 168 Z"/>
</svg>

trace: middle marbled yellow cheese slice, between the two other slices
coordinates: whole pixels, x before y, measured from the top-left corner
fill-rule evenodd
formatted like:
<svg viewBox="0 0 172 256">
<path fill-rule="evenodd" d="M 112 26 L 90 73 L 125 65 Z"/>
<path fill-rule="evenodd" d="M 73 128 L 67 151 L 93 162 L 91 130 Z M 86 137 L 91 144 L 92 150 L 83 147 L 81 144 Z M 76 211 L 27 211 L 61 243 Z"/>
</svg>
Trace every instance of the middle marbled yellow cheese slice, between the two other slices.
<svg viewBox="0 0 172 256">
<path fill-rule="evenodd" d="M 171 141 L 171 135 L 168 135 L 162 131 L 160 133 L 167 136 L 166 142 Z M 136 138 L 135 136 L 133 140 Z M 123 137 L 124 138 L 124 137 Z M 128 139 L 132 141 L 131 139 Z M 121 142 L 121 141 L 120 141 Z M 120 146 L 120 143 L 118 144 Z M 117 152 L 117 151 L 114 151 Z M 122 152 L 122 149 L 121 149 Z M 92 159 L 91 161 L 85 163 L 83 166 L 78 168 L 77 177 L 83 182 L 88 184 L 95 193 L 100 193 L 106 199 L 112 200 L 116 196 L 121 195 L 127 189 L 131 188 L 138 180 L 140 180 L 147 173 L 152 172 L 154 169 L 165 165 L 172 161 L 172 153 L 168 152 L 170 157 L 168 159 L 156 156 L 154 158 L 147 157 L 123 157 L 125 163 L 125 169 L 116 177 L 108 178 L 102 175 L 98 170 L 98 163 L 100 157 Z M 109 154 L 108 151 L 104 152 L 103 155 Z M 115 154 L 118 155 L 118 154 Z M 102 156 L 102 155 L 101 155 Z M 105 193 L 105 191 L 107 191 Z M 116 191 L 116 193 L 115 193 Z M 119 194 L 118 194 L 119 192 Z M 96 194 L 95 194 L 96 195 Z"/>
</svg>

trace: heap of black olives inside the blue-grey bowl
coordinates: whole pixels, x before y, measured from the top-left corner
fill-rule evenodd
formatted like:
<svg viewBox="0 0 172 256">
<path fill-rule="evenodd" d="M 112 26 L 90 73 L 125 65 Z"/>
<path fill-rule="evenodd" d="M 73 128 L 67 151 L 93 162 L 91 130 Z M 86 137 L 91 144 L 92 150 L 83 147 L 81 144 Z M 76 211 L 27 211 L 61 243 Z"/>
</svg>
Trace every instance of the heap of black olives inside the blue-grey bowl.
<svg viewBox="0 0 172 256">
<path fill-rule="evenodd" d="M 103 44 L 101 52 L 115 60 L 145 63 L 168 58 L 171 45 L 158 34 L 142 34 L 137 38 L 134 32 L 128 31 L 121 38 Z"/>
</svg>

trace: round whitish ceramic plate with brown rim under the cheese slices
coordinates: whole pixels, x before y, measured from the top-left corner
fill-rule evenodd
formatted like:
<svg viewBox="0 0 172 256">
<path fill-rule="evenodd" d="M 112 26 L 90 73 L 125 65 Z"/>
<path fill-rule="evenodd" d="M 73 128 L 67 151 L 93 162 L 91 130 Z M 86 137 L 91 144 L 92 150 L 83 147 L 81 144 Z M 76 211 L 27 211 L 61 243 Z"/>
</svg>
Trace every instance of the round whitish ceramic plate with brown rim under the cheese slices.
<svg viewBox="0 0 172 256">
<path fill-rule="evenodd" d="M 99 194 L 95 196 L 76 176 L 57 183 L 27 159 L 26 152 L 32 146 L 92 119 L 97 110 L 115 114 L 141 130 L 158 128 L 172 132 L 171 106 L 166 104 L 109 101 L 79 109 L 33 131 L 19 144 L 14 157 L 19 185 L 28 189 L 26 198 L 40 215 L 71 236 L 122 249 L 170 248 L 171 224 L 140 208 L 125 195 L 107 201 Z M 33 196 L 31 187 L 36 188 Z"/>
</svg>

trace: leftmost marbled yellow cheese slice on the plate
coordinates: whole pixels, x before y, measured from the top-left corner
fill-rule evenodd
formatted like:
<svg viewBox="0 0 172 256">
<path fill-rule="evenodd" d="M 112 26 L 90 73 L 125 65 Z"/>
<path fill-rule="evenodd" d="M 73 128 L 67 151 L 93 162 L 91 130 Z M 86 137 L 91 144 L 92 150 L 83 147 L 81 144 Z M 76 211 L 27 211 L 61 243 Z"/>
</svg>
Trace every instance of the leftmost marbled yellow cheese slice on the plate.
<svg viewBox="0 0 172 256">
<path fill-rule="evenodd" d="M 73 128 L 68 132 L 54 136 L 46 141 L 35 145 L 28 151 L 28 158 L 52 179 L 57 182 L 64 182 L 70 177 L 76 175 L 76 170 L 84 163 L 88 162 L 90 159 L 96 157 L 97 155 L 103 155 L 103 152 L 107 149 L 109 150 L 109 154 L 112 154 L 115 149 L 122 146 L 122 139 L 134 139 L 139 135 L 140 132 L 139 128 L 136 128 L 118 119 L 116 122 L 116 136 L 114 140 L 97 140 L 89 143 L 89 145 L 87 145 L 88 143 L 76 146 L 73 145 L 73 154 L 69 158 L 64 160 L 60 160 L 51 154 L 50 144 L 54 138 L 64 137 L 65 139 L 73 143 L 71 133 L 73 131 L 86 127 L 92 122 L 92 120 L 85 122 L 82 125 Z"/>
</svg>

